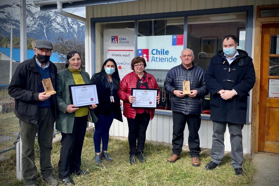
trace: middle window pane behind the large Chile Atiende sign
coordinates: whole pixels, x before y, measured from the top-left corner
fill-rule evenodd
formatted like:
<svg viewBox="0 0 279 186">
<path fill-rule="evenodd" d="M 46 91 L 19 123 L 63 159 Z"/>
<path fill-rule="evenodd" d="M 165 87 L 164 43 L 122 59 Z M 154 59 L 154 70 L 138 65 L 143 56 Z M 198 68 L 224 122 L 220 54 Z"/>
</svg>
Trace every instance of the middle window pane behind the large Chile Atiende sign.
<svg viewBox="0 0 279 186">
<path fill-rule="evenodd" d="M 137 56 L 145 58 L 145 70 L 155 77 L 162 92 L 158 109 L 171 110 L 171 95 L 164 90 L 164 80 L 169 69 L 181 63 L 183 32 L 183 17 L 138 21 Z"/>
</svg>

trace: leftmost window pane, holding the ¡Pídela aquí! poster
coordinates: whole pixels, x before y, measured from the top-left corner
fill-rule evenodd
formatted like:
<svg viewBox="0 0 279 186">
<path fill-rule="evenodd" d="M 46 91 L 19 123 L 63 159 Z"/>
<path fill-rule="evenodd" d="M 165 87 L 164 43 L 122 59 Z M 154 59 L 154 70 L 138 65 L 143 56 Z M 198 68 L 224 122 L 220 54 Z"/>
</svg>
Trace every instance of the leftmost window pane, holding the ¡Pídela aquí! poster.
<svg viewBox="0 0 279 186">
<path fill-rule="evenodd" d="M 120 79 L 131 72 L 131 61 L 135 56 L 135 22 L 96 23 L 95 59 L 96 72 L 100 72 L 104 61 L 115 60 Z"/>
</svg>

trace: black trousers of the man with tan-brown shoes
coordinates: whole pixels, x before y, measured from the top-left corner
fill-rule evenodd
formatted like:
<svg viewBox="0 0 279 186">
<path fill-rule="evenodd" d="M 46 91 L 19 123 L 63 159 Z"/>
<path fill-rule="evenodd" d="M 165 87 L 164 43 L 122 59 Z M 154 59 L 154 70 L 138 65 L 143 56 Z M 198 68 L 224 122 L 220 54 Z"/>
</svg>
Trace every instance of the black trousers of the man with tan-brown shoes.
<svg viewBox="0 0 279 186">
<path fill-rule="evenodd" d="M 180 155 L 184 141 L 185 125 L 188 125 L 189 138 L 188 145 L 191 157 L 199 156 L 201 148 L 199 147 L 198 130 L 201 126 L 200 115 L 185 115 L 178 112 L 173 112 L 173 140 L 172 151 L 176 155 Z"/>
</svg>

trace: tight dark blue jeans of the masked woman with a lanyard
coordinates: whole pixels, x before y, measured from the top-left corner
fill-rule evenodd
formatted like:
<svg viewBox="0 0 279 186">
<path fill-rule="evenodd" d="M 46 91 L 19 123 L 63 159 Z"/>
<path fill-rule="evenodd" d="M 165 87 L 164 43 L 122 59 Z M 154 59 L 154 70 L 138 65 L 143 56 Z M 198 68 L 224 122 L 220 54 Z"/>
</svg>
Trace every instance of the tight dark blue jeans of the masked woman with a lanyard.
<svg viewBox="0 0 279 186">
<path fill-rule="evenodd" d="M 101 152 L 101 139 L 102 139 L 102 150 L 108 150 L 109 144 L 109 132 L 110 126 L 112 124 L 115 112 L 112 112 L 112 115 L 98 115 L 98 121 L 94 123 L 95 131 L 94 131 L 94 148 L 95 153 Z"/>
</svg>

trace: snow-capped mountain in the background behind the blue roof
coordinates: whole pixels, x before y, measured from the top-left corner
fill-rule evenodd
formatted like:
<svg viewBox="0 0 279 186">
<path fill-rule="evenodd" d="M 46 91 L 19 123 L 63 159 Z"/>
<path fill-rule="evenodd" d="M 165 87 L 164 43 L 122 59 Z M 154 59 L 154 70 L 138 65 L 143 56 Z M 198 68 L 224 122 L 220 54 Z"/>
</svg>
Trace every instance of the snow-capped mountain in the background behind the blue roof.
<svg viewBox="0 0 279 186">
<path fill-rule="evenodd" d="M 20 37 L 20 3 L 0 6 L 0 35 L 10 36 L 11 24 L 15 26 L 13 35 Z M 27 37 L 47 39 L 54 42 L 62 35 L 66 39 L 84 41 L 84 22 L 61 16 L 56 10 L 40 11 L 33 2 L 26 1 Z"/>
</svg>

